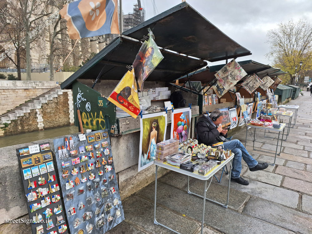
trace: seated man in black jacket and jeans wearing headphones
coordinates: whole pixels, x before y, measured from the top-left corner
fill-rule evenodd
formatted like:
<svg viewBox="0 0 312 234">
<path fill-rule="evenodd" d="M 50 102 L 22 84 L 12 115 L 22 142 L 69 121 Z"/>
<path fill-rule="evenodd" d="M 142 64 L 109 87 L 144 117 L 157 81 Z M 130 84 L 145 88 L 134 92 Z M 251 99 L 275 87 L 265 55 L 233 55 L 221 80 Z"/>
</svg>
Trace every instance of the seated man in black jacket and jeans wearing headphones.
<svg viewBox="0 0 312 234">
<path fill-rule="evenodd" d="M 221 128 L 223 113 L 220 110 L 214 110 L 209 117 L 203 115 L 197 120 L 196 132 L 198 144 L 212 145 L 218 142 L 223 142 L 224 149 L 232 150 L 235 154 L 232 163 L 231 181 L 239 184 L 248 185 L 249 182 L 240 177 L 241 174 L 241 158 L 247 163 L 250 171 L 263 170 L 268 167 L 267 163 L 258 163 L 248 153 L 246 148 L 239 140 L 228 141 L 227 130 Z"/>
</svg>

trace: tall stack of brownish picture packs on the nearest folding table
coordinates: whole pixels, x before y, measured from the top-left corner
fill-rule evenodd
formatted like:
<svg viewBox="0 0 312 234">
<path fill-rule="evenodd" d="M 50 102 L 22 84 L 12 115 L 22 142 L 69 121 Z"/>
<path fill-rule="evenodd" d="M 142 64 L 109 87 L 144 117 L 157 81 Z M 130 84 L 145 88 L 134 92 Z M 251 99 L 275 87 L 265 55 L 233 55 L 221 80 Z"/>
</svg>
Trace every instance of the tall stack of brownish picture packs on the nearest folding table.
<svg viewBox="0 0 312 234">
<path fill-rule="evenodd" d="M 160 162 L 165 162 L 166 157 L 170 154 L 178 152 L 179 149 L 179 140 L 169 139 L 166 141 L 159 142 L 156 144 L 156 159 Z"/>
</svg>

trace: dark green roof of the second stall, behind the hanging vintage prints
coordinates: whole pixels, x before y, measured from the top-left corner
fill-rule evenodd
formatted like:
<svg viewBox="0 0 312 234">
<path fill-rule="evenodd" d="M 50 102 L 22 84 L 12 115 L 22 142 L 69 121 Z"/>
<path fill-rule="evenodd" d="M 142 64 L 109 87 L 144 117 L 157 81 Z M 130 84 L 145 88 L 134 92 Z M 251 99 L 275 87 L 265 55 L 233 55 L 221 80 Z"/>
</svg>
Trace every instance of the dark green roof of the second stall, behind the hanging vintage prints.
<svg viewBox="0 0 312 234">
<path fill-rule="evenodd" d="M 238 64 L 242 66 L 242 68 L 247 72 L 248 75 L 271 68 L 271 66 L 269 65 L 265 65 L 253 60 L 240 61 L 238 62 Z M 216 72 L 219 71 L 225 65 L 226 64 L 219 64 L 215 66 L 210 66 L 209 68 L 206 67 L 204 69 L 196 71 L 194 75 L 193 72 L 188 75 L 190 77 L 190 80 L 192 81 L 201 81 L 207 83 L 212 81 L 215 78 L 214 74 L 216 74 Z M 182 76 L 179 78 L 179 80 L 181 80 L 182 82 L 186 81 L 187 76 L 186 75 Z"/>
</svg>

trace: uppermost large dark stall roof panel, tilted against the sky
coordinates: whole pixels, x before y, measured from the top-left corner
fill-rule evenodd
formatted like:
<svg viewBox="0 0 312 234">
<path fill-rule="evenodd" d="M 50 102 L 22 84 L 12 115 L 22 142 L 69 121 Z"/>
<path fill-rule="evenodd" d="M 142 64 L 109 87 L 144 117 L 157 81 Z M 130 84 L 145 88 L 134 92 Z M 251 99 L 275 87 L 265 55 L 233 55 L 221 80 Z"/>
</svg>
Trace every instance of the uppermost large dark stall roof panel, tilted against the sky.
<svg viewBox="0 0 312 234">
<path fill-rule="evenodd" d="M 251 55 L 249 50 L 221 32 L 186 2 L 123 34 L 144 40 L 148 28 L 153 31 L 158 46 L 210 62 Z"/>
</svg>

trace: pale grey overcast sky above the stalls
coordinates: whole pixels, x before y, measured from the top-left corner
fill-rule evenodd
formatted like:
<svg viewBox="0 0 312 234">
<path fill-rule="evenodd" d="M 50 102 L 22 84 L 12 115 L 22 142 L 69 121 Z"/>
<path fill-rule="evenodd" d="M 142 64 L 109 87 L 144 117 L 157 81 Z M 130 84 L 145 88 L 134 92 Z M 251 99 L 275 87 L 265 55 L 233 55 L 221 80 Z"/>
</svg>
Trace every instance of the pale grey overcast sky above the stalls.
<svg viewBox="0 0 312 234">
<path fill-rule="evenodd" d="M 181 3 L 181 0 L 141 0 L 146 11 L 146 18 L 154 17 L 155 2 L 156 14 L 164 12 Z M 208 21 L 218 27 L 227 36 L 241 46 L 250 50 L 251 56 L 237 58 L 237 61 L 255 60 L 264 64 L 271 62 L 265 54 L 269 51 L 266 43 L 266 33 L 276 28 L 280 22 L 290 19 L 307 20 L 312 23 L 312 0 L 188 0 Z M 132 12 L 136 0 L 123 0 L 124 14 Z M 209 65 L 224 62 L 209 63 Z"/>
</svg>

